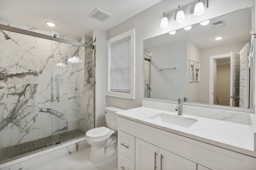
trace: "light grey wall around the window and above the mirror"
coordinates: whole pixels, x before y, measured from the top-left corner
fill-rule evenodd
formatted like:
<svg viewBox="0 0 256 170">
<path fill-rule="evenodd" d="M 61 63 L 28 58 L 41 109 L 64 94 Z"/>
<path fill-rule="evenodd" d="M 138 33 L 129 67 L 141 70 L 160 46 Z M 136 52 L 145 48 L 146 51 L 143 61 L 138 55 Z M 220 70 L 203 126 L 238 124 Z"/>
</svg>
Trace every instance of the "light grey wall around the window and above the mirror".
<svg viewBox="0 0 256 170">
<path fill-rule="evenodd" d="M 186 20 L 182 23 L 170 22 L 166 29 L 160 28 L 160 20 L 163 12 L 171 12 L 177 10 L 178 5 L 184 6 L 194 2 L 194 0 L 162 0 L 158 4 L 148 8 L 140 14 L 124 21 L 123 23 L 109 29 L 107 31 L 107 39 L 110 39 L 120 33 L 135 28 L 135 100 L 106 97 L 107 106 L 121 107 L 124 109 L 130 109 L 139 107 L 142 105 L 142 99 L 144 96 L 144 48 L 143 41 L 150 37 L 154 37 L 163 33 L 167 33 L 182 27 L 198 23 L 200 21 L 208 20 L 223 14 L 227 14 L 242 8 L 250 7 L 255 4 L 254 0 L 209 0 L 209 8 L 205 10 L 202 16 L 187 16 Z M 202 63 L 202 61 L 201 61 Z M 200 63 L 200 66 L 202 64 Z M 102 70 L 102 74 L 105 70 Z M 202 73 L 202 72 L 201 72 Z M 202 82 L 200 82 L 202 84 Z M 201 85 L 202 87 L 202 85 Z M 201 94 L 200 98 L 204 98 L 204 94 Z M 202 96 L 203 95 L 203 96 Z M 206 100 L 208 100 L 208 94 L 206 94 Z"/>
</svg>

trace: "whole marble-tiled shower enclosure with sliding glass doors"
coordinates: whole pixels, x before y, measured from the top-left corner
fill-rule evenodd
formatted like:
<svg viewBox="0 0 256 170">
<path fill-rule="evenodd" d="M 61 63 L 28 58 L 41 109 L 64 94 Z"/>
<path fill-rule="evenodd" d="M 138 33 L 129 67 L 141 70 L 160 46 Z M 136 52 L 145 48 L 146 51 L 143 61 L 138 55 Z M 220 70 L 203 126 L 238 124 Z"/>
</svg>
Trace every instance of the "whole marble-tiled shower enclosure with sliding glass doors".
<svg viewBox="0 0 256 170">
<path fill-rule="evenodd" d="M 0 20 L 0 164 L 94 127 L 92 39 L 6 22 Z"/>
</svg>

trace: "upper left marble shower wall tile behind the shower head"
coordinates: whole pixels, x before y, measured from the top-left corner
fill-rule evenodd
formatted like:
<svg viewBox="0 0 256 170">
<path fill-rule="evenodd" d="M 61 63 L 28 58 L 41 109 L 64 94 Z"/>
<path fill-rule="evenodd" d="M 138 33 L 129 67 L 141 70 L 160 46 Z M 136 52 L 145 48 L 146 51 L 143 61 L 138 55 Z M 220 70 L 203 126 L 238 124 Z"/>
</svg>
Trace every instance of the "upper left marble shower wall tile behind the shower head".
<svg viewBox="0 0 256 170">
<path fill-rule="evenodd" d="M 0 35 L 0 44 L 0 82 L 37 84 L 36 37 L 8 32 L 7 38 L 4 34 Z"/>
</svg>

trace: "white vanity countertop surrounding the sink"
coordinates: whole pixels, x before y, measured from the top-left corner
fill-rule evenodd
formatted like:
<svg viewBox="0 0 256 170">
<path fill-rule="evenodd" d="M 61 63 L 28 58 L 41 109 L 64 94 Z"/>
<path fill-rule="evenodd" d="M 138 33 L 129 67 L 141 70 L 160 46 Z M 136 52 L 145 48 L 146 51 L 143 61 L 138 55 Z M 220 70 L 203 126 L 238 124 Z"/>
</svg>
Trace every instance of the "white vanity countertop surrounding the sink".
<svg viewBox="0 0 256 170">
<path fill-rule="evenodd" d="M 132 121 L 256 157 L 256 152 L 254 152 L 252 125 L 220 121 L 194 115 L 178 115 L 176 112 L 148 107 L 138 107 L 125 111 L 118 111 L 117 113 L 118 116 Z M 148 118 L 158 113 L 177 115 L 196 119 L 197 121 L 190 127 L 182 127 Z"/>
</svg>

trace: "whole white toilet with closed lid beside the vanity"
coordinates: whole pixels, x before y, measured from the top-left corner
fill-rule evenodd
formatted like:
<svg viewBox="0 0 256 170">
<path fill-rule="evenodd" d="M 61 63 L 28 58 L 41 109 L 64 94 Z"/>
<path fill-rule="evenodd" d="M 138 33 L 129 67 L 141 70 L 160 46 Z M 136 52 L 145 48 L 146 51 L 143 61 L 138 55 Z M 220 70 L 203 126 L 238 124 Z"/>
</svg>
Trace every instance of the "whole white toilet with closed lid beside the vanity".
<svg viewBox="0 0 256 170">
<path fill-rule="evenodd" d="M 105 118 L 107 127 L 96 127 L 86 132 L 85 139 L 91 145 L 90 162 L 102 162 L 114 153 L 117 141 L 114 133 L 117 131 L 117 111 L 122 111 L 117 107 L 106 107 Z"/>
</svg>

